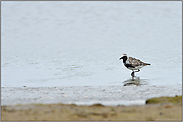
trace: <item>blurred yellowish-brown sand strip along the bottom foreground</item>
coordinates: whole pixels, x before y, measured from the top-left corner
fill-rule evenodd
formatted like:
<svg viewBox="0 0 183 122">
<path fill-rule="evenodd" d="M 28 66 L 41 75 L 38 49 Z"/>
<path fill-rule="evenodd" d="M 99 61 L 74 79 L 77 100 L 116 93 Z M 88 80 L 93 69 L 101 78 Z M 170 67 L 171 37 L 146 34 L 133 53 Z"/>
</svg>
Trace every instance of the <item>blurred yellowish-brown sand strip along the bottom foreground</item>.
<svg viewBox="0 0 183 122">
<path fill-rule="evenodd" d="M 180 121 L 182 120 L 182 97 L 175 98 L 178 99 L 167 101 L 167 98 L 163 98 L 161 100 L 158 99 L 159 102 L 157 104 L 140 106 L 103 106 L 101 104 L 91 106 L 77 106 L 74 104 L 1 106 L 1 119 L 3 121 Z"/>
</svg>

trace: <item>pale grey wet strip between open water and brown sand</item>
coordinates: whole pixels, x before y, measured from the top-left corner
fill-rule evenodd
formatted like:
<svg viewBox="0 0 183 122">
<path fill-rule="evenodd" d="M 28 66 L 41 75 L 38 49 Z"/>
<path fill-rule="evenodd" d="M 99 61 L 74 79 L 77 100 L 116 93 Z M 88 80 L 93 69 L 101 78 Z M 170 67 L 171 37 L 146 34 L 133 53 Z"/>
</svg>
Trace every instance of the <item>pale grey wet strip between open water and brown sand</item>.
<svg viewBox="0 0 183 122">
<path fill-rule="evenodd" d="M 182 95 L 182 86 L 2 87 L 1 93 L 2 105 L 144 105 L 150 98 Z"/>
</svg>

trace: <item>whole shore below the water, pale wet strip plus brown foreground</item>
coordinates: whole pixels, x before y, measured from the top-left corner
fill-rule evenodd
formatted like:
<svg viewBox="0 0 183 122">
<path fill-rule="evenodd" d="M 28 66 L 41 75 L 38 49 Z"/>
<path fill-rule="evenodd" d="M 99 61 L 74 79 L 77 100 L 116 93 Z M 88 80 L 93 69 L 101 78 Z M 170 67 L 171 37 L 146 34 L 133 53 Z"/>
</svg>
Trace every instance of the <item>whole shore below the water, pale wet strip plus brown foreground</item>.
<svg viewBox="0 0 183 122">
<path fill-rule="evenodd" d="M 2 87 L 1 94 L 3 121 L 182 119 L 182 97 L 153 99 L 181 95 L 181 85 Z"/>
</svg>

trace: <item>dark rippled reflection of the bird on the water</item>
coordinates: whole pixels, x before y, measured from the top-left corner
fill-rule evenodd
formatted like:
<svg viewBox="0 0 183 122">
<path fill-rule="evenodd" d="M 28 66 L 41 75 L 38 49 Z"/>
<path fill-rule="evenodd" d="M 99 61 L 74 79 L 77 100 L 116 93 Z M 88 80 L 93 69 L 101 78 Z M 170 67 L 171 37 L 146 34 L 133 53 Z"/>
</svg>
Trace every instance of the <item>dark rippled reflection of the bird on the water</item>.
<svg viewBox="0 0 183 122">
<path fill-rule="evenodd" d="M 131 79 L 125 80 L 123 83 L 123 86 L 140 86 L 140 85 L 146 85 L 147 79 L 140 79 L 140 77 L 132 77 Z"/>
</svg>

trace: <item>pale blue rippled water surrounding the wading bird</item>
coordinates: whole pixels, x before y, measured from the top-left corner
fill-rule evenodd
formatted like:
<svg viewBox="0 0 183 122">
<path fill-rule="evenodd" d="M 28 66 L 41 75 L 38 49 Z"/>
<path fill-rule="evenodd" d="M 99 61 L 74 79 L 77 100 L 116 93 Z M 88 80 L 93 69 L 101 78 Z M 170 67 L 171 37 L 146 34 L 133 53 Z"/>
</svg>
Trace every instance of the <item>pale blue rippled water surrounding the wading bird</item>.
<svg viewBox="0 0 183 122">
<path fill-rule="evenodd" d="M 2 2 L 3 87 L 182 84 L 181 2 Z M 151 66 L 136 73 L 122 54 Z"/>
</svg>

